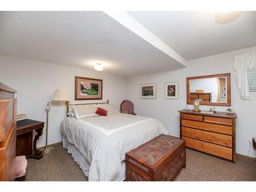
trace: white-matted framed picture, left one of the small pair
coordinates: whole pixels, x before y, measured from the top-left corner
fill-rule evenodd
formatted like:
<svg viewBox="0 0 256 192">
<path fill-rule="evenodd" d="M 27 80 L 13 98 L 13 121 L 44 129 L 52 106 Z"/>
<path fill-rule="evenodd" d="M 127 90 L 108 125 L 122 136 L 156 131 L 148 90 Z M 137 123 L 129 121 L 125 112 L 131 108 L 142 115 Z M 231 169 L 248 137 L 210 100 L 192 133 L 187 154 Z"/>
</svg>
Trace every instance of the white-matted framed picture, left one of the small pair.
<svg viewBox="0 0 256 192">
<path fill-rule="evenodd" d="M 157 83 L 140 84 L 140 99 L 156 99 Z"/>
</svg>

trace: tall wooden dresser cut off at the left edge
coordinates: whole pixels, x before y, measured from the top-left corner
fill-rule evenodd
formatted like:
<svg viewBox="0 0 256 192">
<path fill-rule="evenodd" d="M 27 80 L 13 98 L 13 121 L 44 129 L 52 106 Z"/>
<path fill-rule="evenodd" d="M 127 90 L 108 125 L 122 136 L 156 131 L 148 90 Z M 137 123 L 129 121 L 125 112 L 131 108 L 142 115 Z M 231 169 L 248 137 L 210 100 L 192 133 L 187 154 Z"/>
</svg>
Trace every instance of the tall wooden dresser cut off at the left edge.
<svg viewBox="0 0 256 192">
<path fill-rule="evenodd" d="M 15 180 L 16 106 L 15 90 L 0 83 L 0 181 Z"/>
</svg>

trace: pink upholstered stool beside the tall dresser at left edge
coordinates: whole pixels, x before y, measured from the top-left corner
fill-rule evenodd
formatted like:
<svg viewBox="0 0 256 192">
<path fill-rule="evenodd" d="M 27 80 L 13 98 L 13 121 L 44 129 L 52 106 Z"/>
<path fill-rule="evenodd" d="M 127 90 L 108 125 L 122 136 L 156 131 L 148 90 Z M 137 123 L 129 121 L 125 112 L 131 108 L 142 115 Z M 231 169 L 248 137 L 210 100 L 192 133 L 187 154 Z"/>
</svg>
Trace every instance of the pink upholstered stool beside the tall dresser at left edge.
<svg viewBox="0 0 256 192">
<path fill-rule="evenodd" d="M 26 156 L 17 156 L 15 159 L 15 181 L 24 181 L 26 179 L 26 168 L 28 161 Z"/>
</svg>

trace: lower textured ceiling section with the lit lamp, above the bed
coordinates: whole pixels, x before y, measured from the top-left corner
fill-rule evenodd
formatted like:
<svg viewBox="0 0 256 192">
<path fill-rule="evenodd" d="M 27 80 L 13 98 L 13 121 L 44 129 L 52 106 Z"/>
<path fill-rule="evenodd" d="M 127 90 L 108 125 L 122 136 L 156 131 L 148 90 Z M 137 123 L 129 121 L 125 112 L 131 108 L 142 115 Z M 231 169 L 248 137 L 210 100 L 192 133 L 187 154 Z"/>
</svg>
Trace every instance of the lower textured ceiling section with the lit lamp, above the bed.
<svg viewBox="0 0 256 192">
<path fill-rule="evenodd" d="M 183 68 L 103 12 L 0 12 L 0 53 L 135 76 Z"/>
</svg>

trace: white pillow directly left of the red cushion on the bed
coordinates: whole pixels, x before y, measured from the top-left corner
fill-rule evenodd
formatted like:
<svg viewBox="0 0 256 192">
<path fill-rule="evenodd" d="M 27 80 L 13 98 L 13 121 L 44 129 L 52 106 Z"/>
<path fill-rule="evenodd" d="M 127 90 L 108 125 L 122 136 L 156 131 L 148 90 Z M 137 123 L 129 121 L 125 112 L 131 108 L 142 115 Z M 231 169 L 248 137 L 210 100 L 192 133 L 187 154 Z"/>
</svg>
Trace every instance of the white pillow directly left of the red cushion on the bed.
<svg viewBox="0 0 256 192">
<path fill-rule="evenodd" d="M 97 110 L 96 105 L 94 104 L 85 104 L 85 105 L 76 105 L 73 106 L 73 113 L 76 119 L 84 117 L 99 116 L 95 112 Z"/>
</svg>

